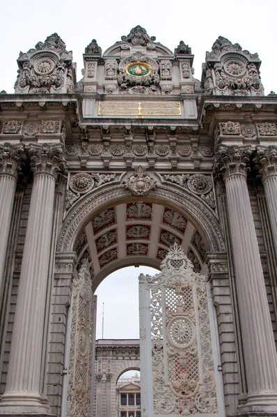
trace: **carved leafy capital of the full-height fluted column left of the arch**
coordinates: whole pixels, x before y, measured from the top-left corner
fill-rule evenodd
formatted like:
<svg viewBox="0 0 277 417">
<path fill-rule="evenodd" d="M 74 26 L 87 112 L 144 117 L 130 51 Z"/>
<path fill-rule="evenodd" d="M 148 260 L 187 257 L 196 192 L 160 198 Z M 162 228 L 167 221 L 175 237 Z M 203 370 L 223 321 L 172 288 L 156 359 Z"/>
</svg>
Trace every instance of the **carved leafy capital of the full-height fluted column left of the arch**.
<svg viewBox="0 0 277 417">
<path fill-rule="evenodd" d="M 33 146 L 29 148 L 31 158 L 31 170 L 33 174 L 52 174 L 58 177 L 58 174 L 65 174 L 68 167 L 65 161 L 63 147 L 61 145 Z"/>
</svg>

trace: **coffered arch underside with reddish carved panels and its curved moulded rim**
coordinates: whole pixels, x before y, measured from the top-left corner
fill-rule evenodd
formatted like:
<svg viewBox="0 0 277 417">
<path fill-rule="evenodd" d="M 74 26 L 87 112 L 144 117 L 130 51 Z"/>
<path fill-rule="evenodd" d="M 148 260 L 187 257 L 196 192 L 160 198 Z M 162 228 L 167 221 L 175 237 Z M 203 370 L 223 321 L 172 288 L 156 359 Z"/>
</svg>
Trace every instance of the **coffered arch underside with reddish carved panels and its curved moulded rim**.
<svg viewBox="0 0 277 417">
<path fill-rule="evenodd" d="M 72 206 L 58 252 L 76 250 L 78 263 L 88 258 L 95 289 L 127 265 L 159 268 L 175 242 L 198 272 L 206 272 L 206 251 L 225 250 L 216 215 L 197 196 L 160 184 L 148 196 L 135 197 L 116 185 L 93 190 Z"/>
</svg>

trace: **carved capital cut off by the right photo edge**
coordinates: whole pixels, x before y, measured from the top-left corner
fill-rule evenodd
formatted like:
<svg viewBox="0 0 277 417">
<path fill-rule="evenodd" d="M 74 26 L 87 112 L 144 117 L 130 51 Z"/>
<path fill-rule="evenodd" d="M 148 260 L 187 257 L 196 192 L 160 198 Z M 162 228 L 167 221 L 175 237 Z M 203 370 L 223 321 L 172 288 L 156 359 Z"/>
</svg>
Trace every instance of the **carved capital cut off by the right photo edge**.
<svg viewBox="0 0 277 417">
<path fill-rule="evenodd" d="M 255 156 L 256 167 L 262 180 L 271 176 L 277 177 L 277 146 L 269 145 L 256 147 L 257 154 Z"/>
</svg>

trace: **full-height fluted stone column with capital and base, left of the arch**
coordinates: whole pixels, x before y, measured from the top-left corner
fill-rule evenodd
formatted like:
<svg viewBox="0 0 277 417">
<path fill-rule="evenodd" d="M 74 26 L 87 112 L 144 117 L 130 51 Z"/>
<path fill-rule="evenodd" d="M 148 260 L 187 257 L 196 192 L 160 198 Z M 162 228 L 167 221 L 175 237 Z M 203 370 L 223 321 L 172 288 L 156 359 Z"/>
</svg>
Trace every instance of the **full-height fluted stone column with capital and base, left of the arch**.
<svg viewBox="0 0 277 417">
<path fill-rule="evenodd" d="M 43 414 L 49 408 L 40 395 L 42 338 L 56 175 L 65 163 L 61 147 L 31 147 L 30 153 L 33 190 L 0 414 Z"/>
</svg>

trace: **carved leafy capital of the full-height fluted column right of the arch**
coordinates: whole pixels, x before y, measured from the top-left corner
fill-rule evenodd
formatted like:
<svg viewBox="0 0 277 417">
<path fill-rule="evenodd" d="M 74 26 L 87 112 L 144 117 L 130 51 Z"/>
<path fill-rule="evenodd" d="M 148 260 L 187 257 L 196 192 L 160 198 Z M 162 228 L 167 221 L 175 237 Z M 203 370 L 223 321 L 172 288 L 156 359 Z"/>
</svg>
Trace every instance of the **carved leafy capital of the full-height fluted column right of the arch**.
<svg viewBox="0 0 277 417">
<path fill-rule="evenodd" d="M 224 180 L 232 174 L 246 175 L 251 154 L 251 146 L 221 146 L 214 159 L 214 172 Z"/>
</svg>

